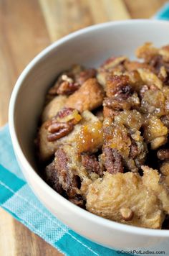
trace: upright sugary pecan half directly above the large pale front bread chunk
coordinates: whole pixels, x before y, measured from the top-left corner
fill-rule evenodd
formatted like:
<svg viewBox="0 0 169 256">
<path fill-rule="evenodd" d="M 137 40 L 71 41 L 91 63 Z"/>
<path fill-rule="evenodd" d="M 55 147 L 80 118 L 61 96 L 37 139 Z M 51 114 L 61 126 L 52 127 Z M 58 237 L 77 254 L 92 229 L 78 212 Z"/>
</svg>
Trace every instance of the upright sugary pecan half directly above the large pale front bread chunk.
<svg viewBox="0 0 169 256">
<path fill-rule="evenodd" d="M 111 174 L 123 173 L 122 156 L 115 148 L 105 147 L 105 168 Z"/>
</svg>

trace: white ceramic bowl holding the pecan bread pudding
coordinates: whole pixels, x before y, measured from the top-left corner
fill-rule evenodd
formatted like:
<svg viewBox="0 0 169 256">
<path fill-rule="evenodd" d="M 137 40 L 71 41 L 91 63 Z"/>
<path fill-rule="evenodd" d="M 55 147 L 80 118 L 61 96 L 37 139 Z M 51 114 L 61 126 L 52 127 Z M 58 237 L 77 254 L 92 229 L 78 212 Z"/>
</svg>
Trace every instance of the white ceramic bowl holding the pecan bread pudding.
<svg viewBox="0 0 169 256">
<path fill-rule="evenodd" d="M 129 20 L 87 27 L 54 42 L 24 69 L 9 106 L 9 127 L 17 160 L 42 204 L 75 232 L 106 247 L 169 252 L 169 230 L 131 227 L 84 211 L 50 188 L 37 174 L 33 140 L 44 95 L 57 74 L 74 63 L 95 67 L 111 55 L 133 57 L 137 46 L 169 43 L 169 22 Z"/>
</svg>

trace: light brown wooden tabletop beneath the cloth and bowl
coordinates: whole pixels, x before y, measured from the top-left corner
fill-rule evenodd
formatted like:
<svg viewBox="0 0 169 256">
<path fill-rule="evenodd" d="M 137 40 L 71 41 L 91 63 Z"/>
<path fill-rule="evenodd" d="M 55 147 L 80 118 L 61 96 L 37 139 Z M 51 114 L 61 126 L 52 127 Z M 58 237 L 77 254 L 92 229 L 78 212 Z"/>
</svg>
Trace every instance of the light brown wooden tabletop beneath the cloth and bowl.
<svg viewBox="0 0 169 256">
<path fill-rule="evenodd" d="M 165 0 L 0 0 L 0 125 L 21 70 L 51 42 L 82 27 L 149 18 Z M 0 255 L 62 255 L 0 209 Z"/>
</svg>

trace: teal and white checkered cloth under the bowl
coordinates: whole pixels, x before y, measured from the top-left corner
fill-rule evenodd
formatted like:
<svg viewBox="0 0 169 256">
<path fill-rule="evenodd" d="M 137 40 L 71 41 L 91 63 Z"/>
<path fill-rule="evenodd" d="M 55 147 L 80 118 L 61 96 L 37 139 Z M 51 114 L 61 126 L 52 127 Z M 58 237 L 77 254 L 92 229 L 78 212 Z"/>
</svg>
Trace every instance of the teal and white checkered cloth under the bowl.
<svg viewBox="0 0 169 256">
<path fill-rule="evenodd" d="M 169 4 L 155 18 L 169 19 Z M 44 208 L 19 169 L 8 125 L 0 131 L 0 206 L 64 255 L 119 255 L 79 236 Z"/>
</svg>

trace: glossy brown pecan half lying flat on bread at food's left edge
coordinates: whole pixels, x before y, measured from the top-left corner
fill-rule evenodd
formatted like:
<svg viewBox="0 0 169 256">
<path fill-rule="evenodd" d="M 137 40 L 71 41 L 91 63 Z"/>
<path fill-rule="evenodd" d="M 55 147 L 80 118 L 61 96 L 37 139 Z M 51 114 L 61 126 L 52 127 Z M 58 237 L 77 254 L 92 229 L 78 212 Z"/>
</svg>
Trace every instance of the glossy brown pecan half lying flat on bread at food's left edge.
<svg viewBox="0 0 169 256">
<path fill-rule="evenodd" d="M 49 125 L 48 131 L 51 134 L 47 135 L 47 140 L 49 142 L 53 142 L 54 140 L 58 140 L 70 132 L 72 132 L 73 124 L 65 123 L 65 122 L 56 122 L 54 124 Z"/>
</svg>

